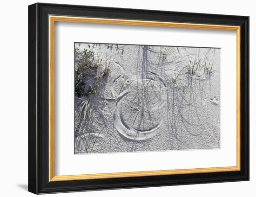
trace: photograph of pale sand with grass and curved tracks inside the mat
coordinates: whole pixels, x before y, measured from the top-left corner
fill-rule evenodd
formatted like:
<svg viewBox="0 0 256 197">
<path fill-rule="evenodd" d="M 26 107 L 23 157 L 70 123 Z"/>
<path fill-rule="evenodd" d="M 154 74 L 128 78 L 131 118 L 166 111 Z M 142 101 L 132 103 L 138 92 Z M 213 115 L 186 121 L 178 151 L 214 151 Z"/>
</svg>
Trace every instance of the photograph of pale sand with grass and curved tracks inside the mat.
<svg viewBox="0 0 256 197">
<path fill-rule="evenodd" d="M 221 148 L 220 48 L 74 43 L 74 153 Z"/>
</svg>

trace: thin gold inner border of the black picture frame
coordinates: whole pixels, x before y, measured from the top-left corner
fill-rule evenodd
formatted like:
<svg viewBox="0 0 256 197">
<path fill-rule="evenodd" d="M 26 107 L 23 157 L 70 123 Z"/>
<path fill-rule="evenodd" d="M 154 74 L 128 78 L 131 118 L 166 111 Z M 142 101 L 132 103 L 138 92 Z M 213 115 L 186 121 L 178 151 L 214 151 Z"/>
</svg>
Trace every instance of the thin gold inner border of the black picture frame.
<svg viewBox="0 0 256 197">
<path fill-rule="evenodd" d="M 141 171 L 141 172 L 115 172 L 115 173 L 100 173 L 100 174 L 81 174 L 81 175 L 54 175 L 54 24 L 55 22 L 79 22 L 79 23 L 96 23 L 96 24 L 112 24 L 112 25 L 141 25 L 141 26 L 158 26 L 158 27 L 173 27 L 173 28 L 188 28 L 188 29 L 209 29 L 209 30 L 229 30 L 236 31 L 236 166 L 230 167 L 211 167 L 211 168 L 194 168 L 194 169 L 177 169 L 177 170 L 159 170 L 159 171 Z M 48 44 L 49 44 L 49 181 L 71 181 L 71 180 L 86 180 L 86 179 L 101 179 L 101 178 L 127 178 L 127 177 L 145 177 L 159 175 L 176 175 L 176 174 L 192 174 L 192 173 L 209 173 L 209 172 L 232 172 L 240 171 L 240 26 L 230 25 L 208 25 L 208 24 L 192 24 L 192 23 L 173 23 L 159 21 L 144 21 L 144 20 L 128 20 L 128 19 L 101 19 L 101 18 L 84 18 L 71 16 L 48 16 Z"/>
</svg>

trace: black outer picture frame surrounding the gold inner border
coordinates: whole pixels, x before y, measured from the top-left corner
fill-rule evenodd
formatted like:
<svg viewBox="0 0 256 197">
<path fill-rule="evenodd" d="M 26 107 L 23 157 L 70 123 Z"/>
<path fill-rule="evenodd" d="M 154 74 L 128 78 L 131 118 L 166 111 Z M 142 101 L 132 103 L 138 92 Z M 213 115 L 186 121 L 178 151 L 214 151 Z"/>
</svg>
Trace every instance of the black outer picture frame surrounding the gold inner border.
<svg viewBox="0 0 256 197">
<path fill-rule="evenodd" d="M 49 181 L 48 15 L 241 27 L 241 170 Z M 35 194 L 249 180 L 249 17 L 35 3 L 28 6 L 28 191 Z"/>
</svg>

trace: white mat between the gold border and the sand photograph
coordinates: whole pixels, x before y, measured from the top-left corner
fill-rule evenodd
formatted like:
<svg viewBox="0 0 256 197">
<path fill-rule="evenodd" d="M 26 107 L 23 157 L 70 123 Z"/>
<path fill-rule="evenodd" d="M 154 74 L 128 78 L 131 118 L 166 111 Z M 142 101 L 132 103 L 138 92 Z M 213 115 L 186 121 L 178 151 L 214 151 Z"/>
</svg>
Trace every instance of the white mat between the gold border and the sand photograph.
<svg viewBox="0 0 256 197">
<path fill-rule="evenodd" d="M 221 149 L 74 155 L 76 41 L 221 48 Z M 54 67 L 55 175 L 236 166 L 236 31 L 58 22 Z"/>
</svg>

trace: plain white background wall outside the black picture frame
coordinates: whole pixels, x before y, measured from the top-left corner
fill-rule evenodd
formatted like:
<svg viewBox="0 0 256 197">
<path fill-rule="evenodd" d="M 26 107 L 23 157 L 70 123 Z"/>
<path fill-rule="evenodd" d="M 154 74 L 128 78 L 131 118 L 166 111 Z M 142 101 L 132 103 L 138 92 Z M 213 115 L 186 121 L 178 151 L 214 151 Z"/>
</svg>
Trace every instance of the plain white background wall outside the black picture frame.
<svg viewBox="0 0 256 197">
<path fill-rule="evenodd" d="M 1 196 L 32 196 L 27 192 L 27 5 L 32 0 L 4 1 L 1 4 L 0 31 L 0 192 Z M 250 54 L 256 53 L 256 13 L 251 0 L 183 0 L 183 1 L 120 1 L 120 0 L 45 0 L 49 3 L 114 6 L 197 13 L 250 16 Z M 55 194 L 56 196 L 255 196 L 256 185 L 256 60 L 250 61 L 250 181 L 141 188 L 113 191 L 92 191 Z M 54 195 L 52 195 L 54 196 Z"/>
</svg>

